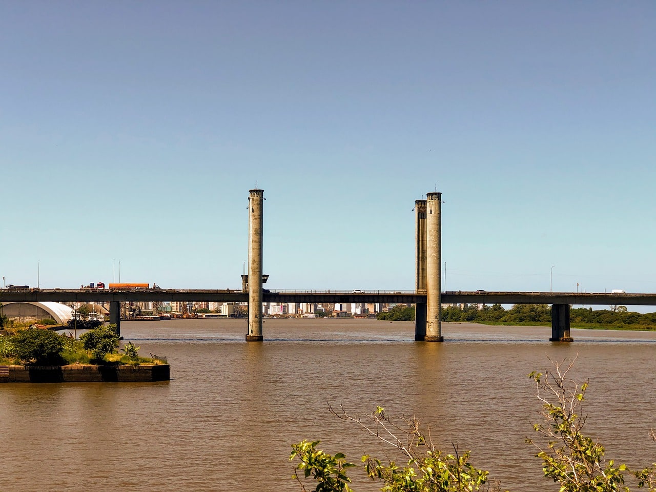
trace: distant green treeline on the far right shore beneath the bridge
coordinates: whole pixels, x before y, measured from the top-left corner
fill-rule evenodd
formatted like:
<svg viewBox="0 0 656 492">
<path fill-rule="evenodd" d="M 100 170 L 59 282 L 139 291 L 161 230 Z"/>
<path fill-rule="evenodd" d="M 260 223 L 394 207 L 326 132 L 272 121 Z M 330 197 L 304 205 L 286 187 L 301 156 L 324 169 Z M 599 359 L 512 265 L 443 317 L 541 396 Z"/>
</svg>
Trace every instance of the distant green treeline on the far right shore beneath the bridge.
<svg viewBox="0 0 656 492">
<path fill-rule="evenodd" d="M 394 306 L 389 312 L 380 313 L 378 319 L 390 321 L 413 321 L 415 308 L 405 305 Z M 625 306 L 614 309 L 592 310 L 592 308 L 575 308 L 569 311 L 570 324 L 584 328 L 613 327 L 626 329 L 656 329 L 656 313 L 640 314 L 628 312 Z M 502 325 L 528 325 L 551 323 L 551 306 L 548 304 L 515 304 L 506 310 L 501 304 L 483 306 L 476 304 L 466 308 L 442 308 L 442 321 L 471 321 L 472 323 L 489 323 Z"/>
</svg>

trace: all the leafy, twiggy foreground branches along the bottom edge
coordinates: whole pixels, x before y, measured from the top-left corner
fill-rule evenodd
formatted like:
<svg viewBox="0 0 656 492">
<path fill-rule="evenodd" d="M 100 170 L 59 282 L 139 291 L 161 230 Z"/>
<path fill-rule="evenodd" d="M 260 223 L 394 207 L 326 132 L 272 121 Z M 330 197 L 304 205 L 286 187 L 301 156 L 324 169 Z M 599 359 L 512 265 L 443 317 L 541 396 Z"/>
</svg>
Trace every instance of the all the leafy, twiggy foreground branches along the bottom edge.
<svg viewBox="0 0 656 492">
<path fill-rule="evenodd" d="M 533 371 L 528 375 L 537 387 L 537 398 L 543 403 L 544 422 L 533 425 L 539 441 L 526 439 L 535 445 L 543 462 L 544 476 L 559 486 L 559 492 L 629 492 L 626 478 L 637 479 L 638 488 L 656 492 L 656 463 L 640 470 L 630 470 L 626 464 L 615 465 L 605 459 L 605 449 L 596 438 L 583 434 L 587 416 L 583 412 L 588 381 L 577 384 L 568 379 L 571 363 L 551 361 L 554 369 L 546 374 Z M 474 468 L 469 462 L 470 452 L 446 454 L 430 441 L 430 428 L 419 420 L 391 419 L 384 409 L 377 407 L 364 417 L 351 417 L 341 408 L 329 411 L 339 419 L 356 422 L 368 434 L 379 438 L 403 457 L 405 464 L 396 464 L 364 455 L 361 461 L 372 480 L 383 483 L 382 492 L 464 492 L 482 489 L 499 490 L 499 483 L 491 483 L 488 473 Z M 652 430 L 651 438 L 656 441 Z M 295 480 L 306 491 L 306 479 L 318 482 L 315 492 L 351 491 L 351 479 L 346 469 L 355 466 L 346 461 L 343 453 L 334 456 L 317 449 L 319 441 L 301 441 L 292 445 L 290 460 L 298 459 Z M 298 470 L 302 470 L 300 476 Z"/>
</svg>

